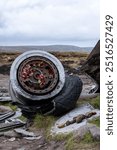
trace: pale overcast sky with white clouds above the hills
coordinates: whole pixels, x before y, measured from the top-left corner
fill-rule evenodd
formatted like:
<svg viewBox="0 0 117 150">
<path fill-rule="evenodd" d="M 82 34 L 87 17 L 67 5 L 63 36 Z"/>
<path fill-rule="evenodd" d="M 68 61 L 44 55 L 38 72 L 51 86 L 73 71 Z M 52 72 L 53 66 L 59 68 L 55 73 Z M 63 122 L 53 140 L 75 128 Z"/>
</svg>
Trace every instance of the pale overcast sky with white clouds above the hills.
<svg viewBox="0 0 117 150">
<path fill-rule="evenodd" d="M 94 46 L 99 0 L 1 0 L 0 45 Z"/>
</svg>

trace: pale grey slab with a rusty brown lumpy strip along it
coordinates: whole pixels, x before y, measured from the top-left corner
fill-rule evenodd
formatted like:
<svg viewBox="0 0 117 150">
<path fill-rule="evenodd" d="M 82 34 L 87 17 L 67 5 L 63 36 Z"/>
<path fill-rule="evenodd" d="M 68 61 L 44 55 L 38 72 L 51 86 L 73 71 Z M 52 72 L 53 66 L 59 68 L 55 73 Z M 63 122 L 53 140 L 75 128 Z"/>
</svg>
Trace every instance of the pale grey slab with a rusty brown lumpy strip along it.
<svg viewBox="0 0 117 150">
<path fill-rule="evenodd" d="M 82 122 L 80 123 L 75 123 L 74 119 L 75 117 L 79 116 L 80 114 L 86 114 L 87 112 L 96 112 L 96 115 L 93 115 L 90 118 L 83 119 Z M 70 132 L 75 132 L 78 131 L 80 127 L 84 126 L 87 124 L 88 120 L 93 119 L 94 117 L 99 117 L 99 110 L 94 109 L 90 104 L 84 104 L 80 105 L 78 108 L 73 109 L 66 115 L 62 116 L 59 118 L 56 122 L 55 125 L 52 126 L 51 128 L 51 133 L 52 134 L 59 134 L 59 133 L 70 133 Z M 65 126 L 67 121 L 72 122 L 69 126 Z M 78 120 L 79 121 L 79 120 Z"/>
</svg>

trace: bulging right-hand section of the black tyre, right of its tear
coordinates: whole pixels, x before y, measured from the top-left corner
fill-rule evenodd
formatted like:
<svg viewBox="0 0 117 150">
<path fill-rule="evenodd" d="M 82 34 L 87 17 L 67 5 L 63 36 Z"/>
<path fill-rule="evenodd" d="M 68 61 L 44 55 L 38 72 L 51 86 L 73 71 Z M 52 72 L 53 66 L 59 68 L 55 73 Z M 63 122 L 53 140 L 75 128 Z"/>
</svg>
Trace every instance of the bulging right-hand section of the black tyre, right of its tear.
<svg viewBox="0 0 117 150">
<path fill-rule="evenodd" d="M 62 91 L 54 98 L 55 110 L 53 115 L 62 115 L 76 106 L 82 91 L 82 81 L 77 76 L 66 76 Z"/>
</svg>

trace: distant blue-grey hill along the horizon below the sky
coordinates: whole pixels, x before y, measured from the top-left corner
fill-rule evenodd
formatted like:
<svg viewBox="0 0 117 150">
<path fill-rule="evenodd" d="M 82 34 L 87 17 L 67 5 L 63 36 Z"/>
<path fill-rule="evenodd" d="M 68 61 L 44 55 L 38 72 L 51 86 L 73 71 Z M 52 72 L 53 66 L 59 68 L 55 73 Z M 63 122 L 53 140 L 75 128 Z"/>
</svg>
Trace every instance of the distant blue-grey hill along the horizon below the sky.
<svg viewBox="0 0 117 150">
<path fill-rule="evenodd" d="M 90 52 L 93 47 L 78 47 L 73 45 L 47 45 L 47 46 L 0 46 L 0 52 L 25 52 L 28 50 L 43 50 L 43 51 L 78 51 Z"/>
</svg>

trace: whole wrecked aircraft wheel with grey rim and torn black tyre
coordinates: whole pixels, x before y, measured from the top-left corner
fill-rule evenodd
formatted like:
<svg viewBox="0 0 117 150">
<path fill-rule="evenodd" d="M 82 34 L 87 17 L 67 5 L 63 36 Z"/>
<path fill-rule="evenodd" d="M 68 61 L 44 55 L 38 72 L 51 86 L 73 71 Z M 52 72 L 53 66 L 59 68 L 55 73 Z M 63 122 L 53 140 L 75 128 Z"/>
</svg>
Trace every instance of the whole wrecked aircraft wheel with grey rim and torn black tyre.
<svg viewBox="0 0 117 150">
<path fill-rule="evenodd" d="M 9 91 L 25 116 L 62 115 L 73 109 L 82 91 L 77 76 L 66 76 L 61 62 L 43 51 L 29 51 L 13 62 Z"/>
</svg>

